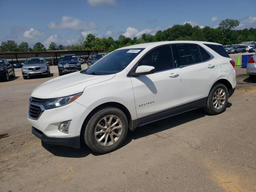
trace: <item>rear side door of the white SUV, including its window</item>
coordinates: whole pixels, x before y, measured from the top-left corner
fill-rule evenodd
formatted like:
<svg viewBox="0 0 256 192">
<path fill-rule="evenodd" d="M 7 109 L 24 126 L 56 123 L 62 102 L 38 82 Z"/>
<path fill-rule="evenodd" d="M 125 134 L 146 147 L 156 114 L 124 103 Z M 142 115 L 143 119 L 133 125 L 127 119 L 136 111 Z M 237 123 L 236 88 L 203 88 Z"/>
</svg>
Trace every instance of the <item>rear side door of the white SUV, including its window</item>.
<svg viewBox="0 0 256 192">
<path fill-rule="evenodd" d="M 219 75 L 216 59 L 197 44 L 173 44 L 172 50 L 180 66 L 182 104 L 206 98 Z"/>
</svg>

